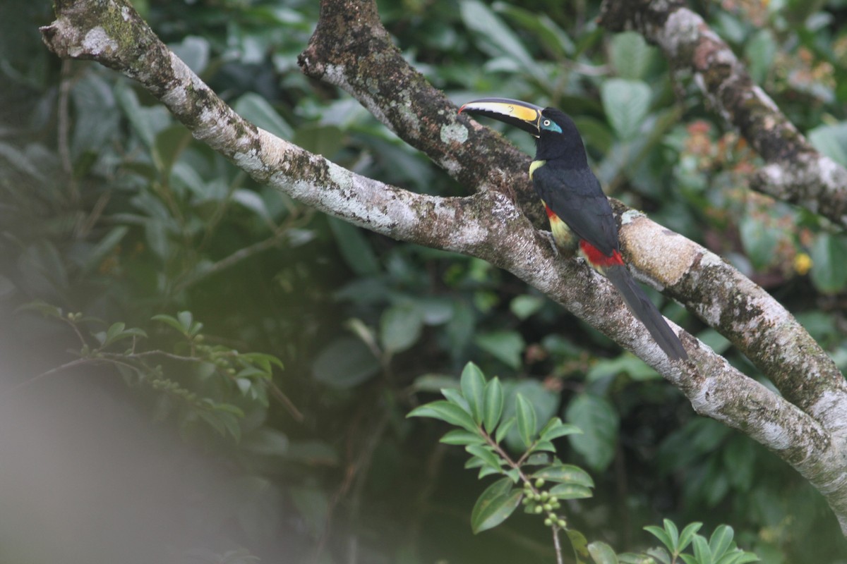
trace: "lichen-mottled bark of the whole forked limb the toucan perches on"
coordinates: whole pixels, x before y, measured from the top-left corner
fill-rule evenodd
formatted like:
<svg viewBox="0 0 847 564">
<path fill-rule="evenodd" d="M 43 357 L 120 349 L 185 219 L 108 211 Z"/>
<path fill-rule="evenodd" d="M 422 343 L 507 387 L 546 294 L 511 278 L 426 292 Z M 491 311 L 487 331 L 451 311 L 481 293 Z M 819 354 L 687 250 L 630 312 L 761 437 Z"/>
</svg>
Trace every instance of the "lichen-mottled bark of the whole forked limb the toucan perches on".
<svg viewBox="0 0 847 564">
<path fill-rule="evenodd" d="M 678 386 L 697 413 L 776 452 L 822 491 L 847 531 L 844 382 L 836 381 L 837 368 L 811 337 L 717 256 L 616 204 L 623 250 L 639 276 L 727 335 L 764 367 L 784 397 L 687 333 L 681 338 L 691 360 L 671 363 L 605 279 L 579 260 L 562 260 L 534 227 L 540 205 L 526 178 L 528 157 L 457 116 L 456 107 L 400 57 L 373 2 L 326 0 L 302 66 L 351 91 L 476 194 L 439 198 L 398 189 L 246 122 L 169 52 L 125 0 L 62 1 L 56 9 L 57 19 L 42 35 L 59 57 L 96 60 L 138 80 L 198 140 L 258 182 L 376 233 L 511 271 L 637 353 Z"/>
</svg>

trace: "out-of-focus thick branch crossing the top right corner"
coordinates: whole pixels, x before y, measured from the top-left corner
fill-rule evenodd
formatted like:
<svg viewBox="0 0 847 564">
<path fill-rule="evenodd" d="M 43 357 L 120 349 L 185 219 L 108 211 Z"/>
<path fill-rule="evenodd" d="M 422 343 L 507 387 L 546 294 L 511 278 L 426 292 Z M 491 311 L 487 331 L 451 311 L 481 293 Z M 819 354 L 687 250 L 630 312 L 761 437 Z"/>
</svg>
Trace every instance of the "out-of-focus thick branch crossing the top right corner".
<svg viewBox="0 0 847 564">
<path fill-rule="evenodd" d="M 694 74 L 711 106 L 767 161 L 752 188 L 847 227 L 847 170 L 809 145 L 700 15 L 680 0 L 606 0 L 600 20 L 609 30 L 638 31 L 662 47 L 676 73 Z"/>
</svg>

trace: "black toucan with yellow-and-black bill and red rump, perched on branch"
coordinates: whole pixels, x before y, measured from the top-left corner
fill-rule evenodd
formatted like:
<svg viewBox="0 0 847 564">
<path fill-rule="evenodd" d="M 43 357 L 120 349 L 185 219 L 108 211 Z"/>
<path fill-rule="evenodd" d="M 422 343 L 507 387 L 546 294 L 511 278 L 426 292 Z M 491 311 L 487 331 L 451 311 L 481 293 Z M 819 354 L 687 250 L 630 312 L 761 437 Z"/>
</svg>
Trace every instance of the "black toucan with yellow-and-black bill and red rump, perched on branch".
<svg viewBox="0 0 847 564">
<path fill-rule="evenodd" d="M 508 98 L 469 101 L 459 108 L 463 112 L 494 118 L 535 137 L 529 178 L 545 205 L 556 247 L 566 256 L 579 253 L 608 278 L 669 359 L 688 359 L 676 333 L 623 262 L 612 206 L 591 172 L 573 119 L 555 107 Z"/>
</svg>

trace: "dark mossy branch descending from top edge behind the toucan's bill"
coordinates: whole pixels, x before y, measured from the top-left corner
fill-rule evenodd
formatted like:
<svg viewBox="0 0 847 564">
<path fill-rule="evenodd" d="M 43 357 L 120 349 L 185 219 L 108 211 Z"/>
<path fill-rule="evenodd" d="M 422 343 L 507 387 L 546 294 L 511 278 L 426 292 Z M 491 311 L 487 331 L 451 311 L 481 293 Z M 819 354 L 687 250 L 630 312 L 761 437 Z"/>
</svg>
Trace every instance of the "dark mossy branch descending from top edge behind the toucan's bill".
<svg viewBox="0 0 847 564">
<path fill-rule="evenodd" d="M 391 42 L 376 3 L 322 2 L 318 27 L 298 62 L 303 72 L 339 86 L 402 140 L 423 151 L 462 185 L 495 189 L 518 201 L 541 226 L 546 221 L 524 171 L 529 159 L 496 142 L 406 62 Z M 494 169 L 480 171 L 479 156 Z"/>
</svg>

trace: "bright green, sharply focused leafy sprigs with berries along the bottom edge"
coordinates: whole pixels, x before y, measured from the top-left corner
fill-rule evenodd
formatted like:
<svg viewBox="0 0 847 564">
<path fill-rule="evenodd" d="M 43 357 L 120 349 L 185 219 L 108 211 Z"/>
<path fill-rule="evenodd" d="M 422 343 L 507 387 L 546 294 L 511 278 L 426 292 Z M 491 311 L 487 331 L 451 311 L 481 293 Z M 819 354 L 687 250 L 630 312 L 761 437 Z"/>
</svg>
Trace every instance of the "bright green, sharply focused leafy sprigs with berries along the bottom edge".
<svg viewBox="0 0 847 564">
<path fill-rule="evenodd" d="M 643 555 L 616 555 L 606 543 L 589 545 L 583 533 L 568 527 L 560 512 L 560 500 L 590 497 L 594 481 L 582 468 L 562 463 L 556 457 L 556 446 L 552 442 L 562 436 L 581 434 L 579 427 L 564 424 L 562 419 L 554 417 L 539 430 L 532 403 L 519 393 L 515 396 L 515 416 L 501 420 L 503 389 L 500 380 L 495 377 L 486 381 L 476 364 L 465 365 L 459 384 L 458 390 L 441 390 L 445 400 L 419 406 L 408 417 L 440 419 L 460 427 L 448 431 L 441 442 L 464 446 L 471 455 L 465 468 L 479 468 L 479 479 L 491 474 L 504 476 L 489 485 L 473 506 L 471 528 L 474 533 L 503 523 L 523 504 L 525 512 L 545 517 L 545 526 L 550 527 L 556 537 L 556 561 L 559 562 L 562 561 L 557 540 L 559 531 L 564 531 L 570 539 L 577 562 L 586 562 L 589 557 L 595 564 L 617 564 L 619 561 L 674 564 L 679 559 L 685 564 L 743 564 L 759 560 L 753 553 L 737 548 L 733 542 L 733 528 L 727 525 L 716 528 L 706 540 L 696 534 L 703 523 L 691 523 L 680 534 L 668 519 L 664 521 L 664 528 L 645 527 L 667 547 L 667 551 L 651 549 Z M 518 429 L 525 449 L 518 460 L 510 457 L 501 446 L 512 426 Z M 555 485 L 545 488 L 547 482 Z M 694 547 L 693 555 L 683 553 L 689 545 Z"/>
</svg>

